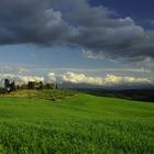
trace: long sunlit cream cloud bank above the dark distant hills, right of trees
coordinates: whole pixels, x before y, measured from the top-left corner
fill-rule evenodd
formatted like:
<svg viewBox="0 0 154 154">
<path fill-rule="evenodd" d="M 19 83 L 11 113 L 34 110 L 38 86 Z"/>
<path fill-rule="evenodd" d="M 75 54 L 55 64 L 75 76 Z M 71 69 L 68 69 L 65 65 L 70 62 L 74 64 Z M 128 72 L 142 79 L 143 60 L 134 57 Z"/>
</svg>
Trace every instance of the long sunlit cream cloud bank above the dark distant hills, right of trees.
<svg viewBox="0 0 154 154">
<path fill-rule="evenodd" d="M 116 76 L 116 75 L 107 75 L 106 77 L 90 77 L 85 74 L 75 74 L 75 73 L 66 73 L 62 75 L 62 79 L 64 81 L 73 82 L 73 84 L 89 84 L 89 85 L 100 85 L 100 86 L 114 86 L 114 85 L 123 85 L 123 84 L 152 84 L 152 81 L 147 78 L 136 78 L 136 77 L 128 77 L 128 76 Z"/>
</svg>

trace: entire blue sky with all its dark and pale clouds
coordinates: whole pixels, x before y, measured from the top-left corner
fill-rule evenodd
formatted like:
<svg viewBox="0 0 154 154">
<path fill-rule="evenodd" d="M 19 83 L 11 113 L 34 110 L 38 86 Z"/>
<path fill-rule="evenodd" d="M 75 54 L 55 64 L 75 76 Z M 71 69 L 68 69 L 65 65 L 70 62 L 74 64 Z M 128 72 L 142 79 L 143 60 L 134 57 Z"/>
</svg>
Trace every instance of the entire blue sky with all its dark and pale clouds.
<svg viewBox="0 0 154 154">
<path fill-rule="evenodd" d="M 0 85 L 9 78 L 154 85 L 153 0 L 1 0 Z"/>
</svg>

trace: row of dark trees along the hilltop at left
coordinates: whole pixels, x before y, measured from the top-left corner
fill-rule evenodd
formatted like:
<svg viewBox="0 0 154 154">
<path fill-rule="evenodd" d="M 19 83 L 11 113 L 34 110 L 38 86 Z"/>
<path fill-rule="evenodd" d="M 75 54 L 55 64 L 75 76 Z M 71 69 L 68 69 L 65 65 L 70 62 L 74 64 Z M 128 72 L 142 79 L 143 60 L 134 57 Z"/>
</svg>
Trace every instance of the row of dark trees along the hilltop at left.
<svg viewBox="0 0 154 154">
<path fill-rule="evenodd" d="M 23 85 L 15 85 L 15 81 L 10 81 L 9 79 L 4 79 L 4 88 L 1 88 L 1 91 L 3 92 L 11 92 L 15 91 L 19 89 L 36 89 L 36 90 L 42 90 L 42 89 L 53 89 L 57 88 L 57 84 L 53 82 L 47 82 L 44 84 L 43 81 L 29 81 L 28 84 Z"/>
</svg>

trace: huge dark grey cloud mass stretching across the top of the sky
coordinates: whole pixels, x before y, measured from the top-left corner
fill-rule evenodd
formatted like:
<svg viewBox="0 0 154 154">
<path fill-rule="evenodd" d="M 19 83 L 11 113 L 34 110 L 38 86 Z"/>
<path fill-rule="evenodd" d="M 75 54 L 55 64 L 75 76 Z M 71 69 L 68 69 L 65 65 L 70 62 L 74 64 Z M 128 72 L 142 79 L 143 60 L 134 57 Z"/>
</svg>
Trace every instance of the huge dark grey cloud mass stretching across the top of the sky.
<svg viewBox="0 0 154 154">
<path fill-rule="evenodd" d="M 0 44 L 80 46 L 89 57 L 154 58 L 154 31 L 86 0 L 1 0 Z"/>
</svg>

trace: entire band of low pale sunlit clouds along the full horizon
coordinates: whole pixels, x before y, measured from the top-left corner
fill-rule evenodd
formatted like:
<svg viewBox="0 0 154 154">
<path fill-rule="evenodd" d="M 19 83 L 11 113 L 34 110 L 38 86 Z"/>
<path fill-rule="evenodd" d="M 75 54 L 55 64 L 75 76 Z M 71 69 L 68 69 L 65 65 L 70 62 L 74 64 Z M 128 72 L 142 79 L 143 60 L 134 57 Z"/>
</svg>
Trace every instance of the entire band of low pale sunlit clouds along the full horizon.
<svg viewBox="0 0 154 154">
<path fill-rule="evenodd" d="M 15 74 L 0 74 L 0 86 L 3 86 L 4 79 L 8 78 L 10 81 L 15 81 L 18 85 L 28 84 L 29 81 L 43 81 L 43 82 L 58 82 L 58 84 L 87 84 L 91 86 L 144 86 L 154 85 L 154 81 L 148 78 L 138 78 L 131 76 L 117 76 L 108 74 L 106 77 L 94 77 L 86 74 L 66 72 L 64 74 L 55 74 L 53 72 L 45 76 L 26 76 Z"/>
</svg>

